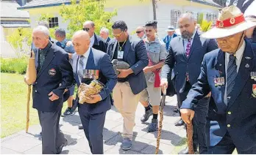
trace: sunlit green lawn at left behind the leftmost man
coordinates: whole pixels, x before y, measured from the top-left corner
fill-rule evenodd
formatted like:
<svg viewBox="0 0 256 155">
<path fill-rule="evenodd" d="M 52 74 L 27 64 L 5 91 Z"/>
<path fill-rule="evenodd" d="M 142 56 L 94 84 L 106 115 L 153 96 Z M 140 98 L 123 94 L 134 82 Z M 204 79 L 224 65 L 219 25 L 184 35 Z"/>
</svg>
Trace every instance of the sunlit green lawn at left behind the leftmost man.
<svg viewBox="0 0 256 155">
<path fill-rule="evenodd" d="M 1 138 L 26 128 L 27 85 L 24 75 L 1 73 Z M 67 104 L 63 105 L 63 111 Z M 39 124 L 30 99 L 29 125 Z"/>
</svg>

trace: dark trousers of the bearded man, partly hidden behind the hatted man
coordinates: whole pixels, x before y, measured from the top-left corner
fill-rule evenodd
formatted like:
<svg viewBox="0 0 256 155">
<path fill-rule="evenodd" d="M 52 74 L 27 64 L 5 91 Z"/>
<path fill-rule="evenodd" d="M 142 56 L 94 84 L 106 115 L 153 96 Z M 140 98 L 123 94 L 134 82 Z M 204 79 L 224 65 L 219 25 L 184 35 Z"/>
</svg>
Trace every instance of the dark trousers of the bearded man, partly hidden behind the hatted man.
<svg viewBox="0 0 256 155">
<path fill-rule="evenodd" d="M 188 95 L 188 91 L 191 90 L 191 84 L 189 82 L 185 83 L 185 89 L 182 93 L 177 92 L 177 99 L 178 99 L 178 107 L 180 108 L 182 102 L 186 99 Z M 199 102 L 210 102 L 210 97 L 201 99 Z M 208 111 L 208 104 L 204 104 L 204 107 L 199 107 L 198 105 L 195 107 L 195 116 L 192 120 L 193 124 L 193 147 L 194 150 L 197 150 L 199 146 L 199 153 L 200 154 L 207 154 L 207 139 L 206 139 L 206 116 Z"/>
</svg>

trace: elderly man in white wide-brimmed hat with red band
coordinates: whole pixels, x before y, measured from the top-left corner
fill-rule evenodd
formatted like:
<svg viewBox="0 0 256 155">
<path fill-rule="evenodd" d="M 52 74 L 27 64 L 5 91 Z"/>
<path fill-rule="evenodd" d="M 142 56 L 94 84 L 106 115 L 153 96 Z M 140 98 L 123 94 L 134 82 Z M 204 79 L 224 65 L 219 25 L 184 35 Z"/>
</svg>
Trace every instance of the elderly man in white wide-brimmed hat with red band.
<svg viewBox="0 0 256 155">
<path fill-rule="evenodd" d="M 207 124 L 208 154 L 256 154 L 256 51 L 244 31 L 256 23 L 246 21 L 238 7 L 225 7 L 216 26 L 202 37 L 216 39 L 219 49 L 205 55 L 197 83 L 182 102 L 186 124 L 193 108 L 210 91 Z M 207 131 L 207 130 L 206 130 Z"/>
</svg>

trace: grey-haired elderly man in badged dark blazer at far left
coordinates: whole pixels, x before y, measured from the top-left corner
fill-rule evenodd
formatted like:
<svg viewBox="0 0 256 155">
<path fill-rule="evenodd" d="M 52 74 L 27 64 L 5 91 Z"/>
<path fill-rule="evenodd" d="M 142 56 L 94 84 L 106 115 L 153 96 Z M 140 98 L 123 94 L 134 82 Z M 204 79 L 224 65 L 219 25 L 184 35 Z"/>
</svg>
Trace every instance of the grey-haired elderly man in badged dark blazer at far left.
<svg viewBox="0 0 256 155">
<path fill-rule="evenodd" d="M 60 154 L 67 145 L 59 126 L 63 93 L 73 85 L 74 75 L 68 53 L 50 42 L 49 35 L 46 26 L 37 26 L 32 32 L 37 69 L 32 97 L 42 126 L 42 153 Z"/>
</svg>

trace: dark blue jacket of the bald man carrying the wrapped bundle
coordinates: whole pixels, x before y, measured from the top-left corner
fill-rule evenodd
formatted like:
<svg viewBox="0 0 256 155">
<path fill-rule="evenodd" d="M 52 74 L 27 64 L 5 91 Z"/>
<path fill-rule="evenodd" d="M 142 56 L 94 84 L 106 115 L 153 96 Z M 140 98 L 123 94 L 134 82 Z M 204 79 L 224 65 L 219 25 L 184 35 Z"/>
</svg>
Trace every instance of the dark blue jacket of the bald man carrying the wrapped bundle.
<svg viewBox="0 0 256 155">
<path fill-rule="evenodd" d="M 77 86 L 79 86 L 80 82 L 77 75 L 77 60 L 78 55 L 77 53 L 74 53 L 71 64 L 74 69 L 74 77 L 77 82 Z M 84 104 L 79 105 L 79 108 L 82 108 L 83 111 L 91 114 L 103 113 L 110 110 L 110 93 L 113 91 L 113 88 L 117 83 L 117 76 L 115 75 L 113 64 L 110 61 L 110 56 L 102 51 L 91 48 L 85 69 L 99 70 L 100 76 L 98 80 L 105 84 L 105 88 L 99 93 L 99 95 L 102 97 L 102 101 L 97 102 L 96 104 L 88 104 L 85 102 Z"/>
</svg>

